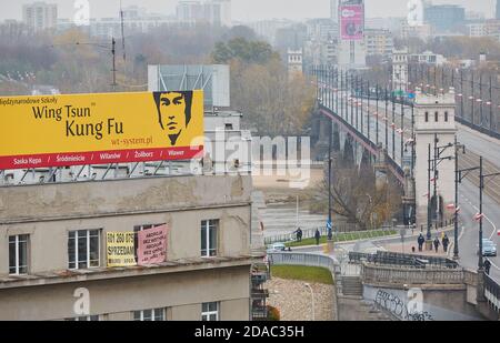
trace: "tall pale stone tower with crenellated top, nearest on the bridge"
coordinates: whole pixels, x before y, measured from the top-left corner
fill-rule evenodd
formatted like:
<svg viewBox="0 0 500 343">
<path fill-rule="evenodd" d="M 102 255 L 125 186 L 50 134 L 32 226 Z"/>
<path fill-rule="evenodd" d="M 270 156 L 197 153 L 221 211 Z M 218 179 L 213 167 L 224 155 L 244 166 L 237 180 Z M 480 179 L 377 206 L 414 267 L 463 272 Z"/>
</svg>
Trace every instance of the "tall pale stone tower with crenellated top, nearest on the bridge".
<svg viewBox="0 0 500 343">
<path fill-rule="evenodd" d="M 431 147 L 431 159 L 433 159 L 434 134 L 443 147 L 454 142 L 457 127 L 454 122 L 456 94 L 450 93 L 429 95 L 416 91 L 414 118 L 416 118 L 416 199 L 417 199 L 417 223 L 427 225 L 428 198 L 432 204 L 432 219 L 441 222 L 450 219 L 452 213 L 447 213 L 446 205 L 454 203 L 454 162 L 452 160 L 440 162 L 439 178 L 437 179 L 437 199 L 433 198 L 433 183 L 431 193 L 428 192 L 428 150 Z M 452 151 L 450 151 L 452 153 Z M 433 179 L 433 174 L 431 175 Z"/>
</svg>

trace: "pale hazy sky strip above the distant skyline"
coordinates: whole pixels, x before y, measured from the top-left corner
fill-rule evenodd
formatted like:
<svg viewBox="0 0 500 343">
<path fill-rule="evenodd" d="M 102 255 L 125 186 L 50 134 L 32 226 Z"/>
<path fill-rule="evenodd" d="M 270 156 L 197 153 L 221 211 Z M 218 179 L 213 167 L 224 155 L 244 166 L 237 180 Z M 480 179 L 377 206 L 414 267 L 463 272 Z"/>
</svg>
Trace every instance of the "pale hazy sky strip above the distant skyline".
<svg viewBox="0 0 500 343">
<path fill-rule="evenodd" d="M 59 17 L 72 17 L 74 0 L 44 0 L 58 3 Z M 34 0 L 0 0 L 0 20 L 21 19 L 22 3 Z M 117 17 L 120 0 L 89 0 L 91 17 Z M 137 4 L 152 12 L 172 14 L 178 0 L 122 0 L 123 6 Z M 403 17 L 408 0 L 366 0 L 367 17 Z M 486 12 L 487 18 L 494 14 L 496 0 L 434 0 L 433 3 L 457 3 L 468 10 Z M 321 18 L 329 17 L 329 0 L 232 0 L 232 18 L 251 21 L 271 18 Z"/>
</svg>

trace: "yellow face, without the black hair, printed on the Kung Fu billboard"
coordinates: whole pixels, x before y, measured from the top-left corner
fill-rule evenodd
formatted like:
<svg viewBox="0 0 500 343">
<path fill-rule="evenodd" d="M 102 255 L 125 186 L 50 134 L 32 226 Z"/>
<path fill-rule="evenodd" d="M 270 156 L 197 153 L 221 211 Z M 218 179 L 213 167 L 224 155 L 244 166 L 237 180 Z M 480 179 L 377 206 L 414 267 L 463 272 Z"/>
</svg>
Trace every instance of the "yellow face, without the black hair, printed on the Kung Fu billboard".
<svg viewBox="0 0 500 343">
<path fill-rule="evenodd" d="M 179 135 L 186 129 L 186 99 L 182 93 L 160 95 L 160 117 L 168 135 Z"/>
</svg>

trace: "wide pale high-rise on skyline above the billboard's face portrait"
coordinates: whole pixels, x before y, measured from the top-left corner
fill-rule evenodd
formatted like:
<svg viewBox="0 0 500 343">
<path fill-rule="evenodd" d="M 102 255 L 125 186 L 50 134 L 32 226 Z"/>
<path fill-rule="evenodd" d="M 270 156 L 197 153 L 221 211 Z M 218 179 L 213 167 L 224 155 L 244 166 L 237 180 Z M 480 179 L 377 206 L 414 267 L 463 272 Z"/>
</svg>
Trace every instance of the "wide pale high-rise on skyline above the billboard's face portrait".
<svg viewBox="0 0 500 343">
<path fill-rule="evenodd" d="M 180 22 L 208 22 L 231 26 L 231 0 L 180 1 L 177 6 Z"/>
</svg>

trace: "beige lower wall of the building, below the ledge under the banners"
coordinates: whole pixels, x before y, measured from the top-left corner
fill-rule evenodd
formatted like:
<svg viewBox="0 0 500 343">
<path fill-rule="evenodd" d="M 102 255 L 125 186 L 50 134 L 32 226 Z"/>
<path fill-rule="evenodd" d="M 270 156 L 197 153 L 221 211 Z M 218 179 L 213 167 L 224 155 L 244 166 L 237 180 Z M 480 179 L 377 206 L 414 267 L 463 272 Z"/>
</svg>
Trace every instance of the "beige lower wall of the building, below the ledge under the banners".
<svg viewBox="0 0 500 343">
<path fill-rule="evenodd" d="M 167 309 L 167 320 L 201 320 L 203 302 L 220 302 L 220 320 L 248 321 L 249 266 L 2 290 L 0 321 L 77 316 L 74 290 L 89 291 L 90 314 L 128 321 L 132 311 Z"/>
</svg>

